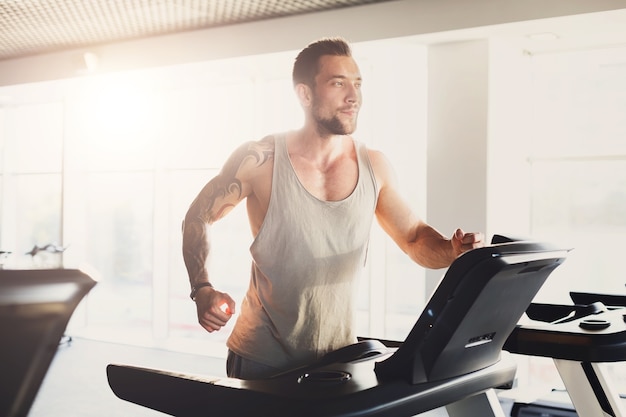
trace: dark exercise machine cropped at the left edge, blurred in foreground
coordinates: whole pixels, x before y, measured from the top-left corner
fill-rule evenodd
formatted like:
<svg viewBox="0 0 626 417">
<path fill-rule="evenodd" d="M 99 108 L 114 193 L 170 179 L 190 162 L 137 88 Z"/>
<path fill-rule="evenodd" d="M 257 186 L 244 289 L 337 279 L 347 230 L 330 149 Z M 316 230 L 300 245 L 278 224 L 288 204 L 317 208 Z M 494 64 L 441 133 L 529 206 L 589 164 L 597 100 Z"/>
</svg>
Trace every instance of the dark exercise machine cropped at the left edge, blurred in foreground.
<svg viewBox="0 0 626 417">
<path fill-rule="evenodd" d="M 67 323 L 95 281 L 74 269 L 0 269 L 0 416 L 27 416 Z"/>
</svg>

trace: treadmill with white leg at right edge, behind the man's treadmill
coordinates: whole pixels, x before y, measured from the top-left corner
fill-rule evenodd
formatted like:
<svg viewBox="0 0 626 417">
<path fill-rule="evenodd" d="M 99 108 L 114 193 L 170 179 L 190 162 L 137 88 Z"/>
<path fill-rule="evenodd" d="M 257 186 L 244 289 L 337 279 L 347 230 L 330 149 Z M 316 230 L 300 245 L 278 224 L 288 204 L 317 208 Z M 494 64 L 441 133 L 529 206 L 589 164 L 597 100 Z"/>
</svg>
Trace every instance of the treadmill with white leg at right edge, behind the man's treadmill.
<svg viewBox="0 0 626 417">
<path fill-rule="evenodd" d="M 580 417 L 626 417 L 608 366 L 626 361 L 626 296 L 571 292 L 572 305 L 533 303 L 533 320 L 504 345 L 511 353 L 553 358 Z M 623 393 L 622 393 L 623 394 Z M 561 416 L 536 404 L 516 404 L 513 416 Z"/>
</svg>

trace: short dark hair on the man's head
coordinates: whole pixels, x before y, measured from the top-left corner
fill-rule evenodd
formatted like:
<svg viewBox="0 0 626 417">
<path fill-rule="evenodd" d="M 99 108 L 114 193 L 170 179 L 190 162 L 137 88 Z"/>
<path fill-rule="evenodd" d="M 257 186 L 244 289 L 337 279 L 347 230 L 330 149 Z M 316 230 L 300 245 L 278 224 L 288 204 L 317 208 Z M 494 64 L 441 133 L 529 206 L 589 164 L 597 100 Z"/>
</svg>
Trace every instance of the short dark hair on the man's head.
<svg viewBox="0 0 626 417">
<path fill-rule="evenodd" d="M 293 64 L 293 85 L 300 83 L 315 87 L 315 76 L 319 71 L 320 57 L 323 55 L 352 56 L 350 45 L 343 38 L 324 38 L 310 43 L 304 48 Z"/>
</svg>

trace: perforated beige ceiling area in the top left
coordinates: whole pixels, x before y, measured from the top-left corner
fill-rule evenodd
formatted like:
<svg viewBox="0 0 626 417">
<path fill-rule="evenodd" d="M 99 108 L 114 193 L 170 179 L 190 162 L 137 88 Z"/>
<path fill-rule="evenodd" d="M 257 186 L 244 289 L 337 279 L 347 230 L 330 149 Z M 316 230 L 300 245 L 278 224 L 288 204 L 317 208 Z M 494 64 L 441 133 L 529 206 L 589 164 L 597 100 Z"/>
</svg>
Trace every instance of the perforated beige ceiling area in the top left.
<svg viewBox="0 0 626 417">
<path fill-rule="evenodd" d="M 0 60 L 389 0 L 2 0 Z"/>
</svg>

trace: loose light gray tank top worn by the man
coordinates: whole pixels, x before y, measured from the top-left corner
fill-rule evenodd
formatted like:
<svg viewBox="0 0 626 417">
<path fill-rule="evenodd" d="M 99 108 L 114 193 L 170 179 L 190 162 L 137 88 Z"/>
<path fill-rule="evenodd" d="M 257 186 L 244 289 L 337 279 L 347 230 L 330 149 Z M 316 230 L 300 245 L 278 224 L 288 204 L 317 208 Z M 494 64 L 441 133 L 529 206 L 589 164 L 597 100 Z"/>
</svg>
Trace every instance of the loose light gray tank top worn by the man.
<svg viewBox="0 0 626 417">
<path fill-rule="evenodd" d="M 285 135 L 275 137 L 269 207 L 227 342 L 233 352 L 287 369 L 356 342 L 354 298 L 378 193 L 366 147 L 354 146 L 356 187 L 344 200 L 322 201 L 300 183 Z"/>
</svg>

